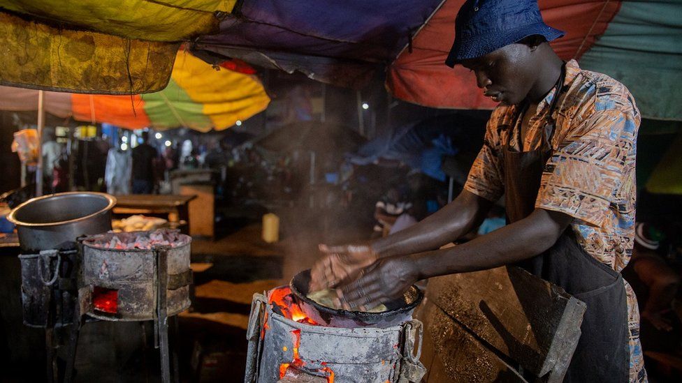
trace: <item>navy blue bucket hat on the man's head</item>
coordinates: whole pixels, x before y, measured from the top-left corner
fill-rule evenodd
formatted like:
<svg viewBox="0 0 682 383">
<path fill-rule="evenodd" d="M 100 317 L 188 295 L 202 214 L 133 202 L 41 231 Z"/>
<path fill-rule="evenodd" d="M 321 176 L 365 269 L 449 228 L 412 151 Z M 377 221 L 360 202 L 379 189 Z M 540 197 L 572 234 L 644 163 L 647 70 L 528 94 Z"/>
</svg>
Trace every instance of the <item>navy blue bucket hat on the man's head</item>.
<svg viewBox="0 0 682 383">
<path fill-rule="evenodd" d="M 445 64 L 484 56 L 532 35 L 547 41 L 563 31 L 542 21 L 536 0 L 467 0 L 455 20 L 455 42 Z"/>
</svg>

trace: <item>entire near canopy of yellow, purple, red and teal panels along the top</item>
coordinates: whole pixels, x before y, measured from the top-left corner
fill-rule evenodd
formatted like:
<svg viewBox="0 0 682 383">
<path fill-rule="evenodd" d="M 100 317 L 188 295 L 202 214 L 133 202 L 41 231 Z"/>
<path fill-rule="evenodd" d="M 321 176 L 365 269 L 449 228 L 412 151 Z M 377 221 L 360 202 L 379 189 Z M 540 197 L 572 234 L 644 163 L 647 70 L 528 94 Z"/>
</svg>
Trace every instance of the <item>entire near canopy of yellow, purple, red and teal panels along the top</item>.
<svg viewBox="0 0 682 383">
<path fill-rule="evenodd" d="M 464 0 L 0 0 L 0 84 L 148 93 L 170 76 L 180 41 L 211 63 L 243 59 L 411 103 L 491 108 L 461 68 L 443 65 Z M 621 80 L 645 117 L 682 121 L 682 2 L 539 0 L 567 35 L 564 59 Z M 20 15 L 20 17 L 17 17 Z M 31 20 L 31 21 L 27 21 Z M 36 24 L 38 22 L 39 24 Z"/>
</svg>

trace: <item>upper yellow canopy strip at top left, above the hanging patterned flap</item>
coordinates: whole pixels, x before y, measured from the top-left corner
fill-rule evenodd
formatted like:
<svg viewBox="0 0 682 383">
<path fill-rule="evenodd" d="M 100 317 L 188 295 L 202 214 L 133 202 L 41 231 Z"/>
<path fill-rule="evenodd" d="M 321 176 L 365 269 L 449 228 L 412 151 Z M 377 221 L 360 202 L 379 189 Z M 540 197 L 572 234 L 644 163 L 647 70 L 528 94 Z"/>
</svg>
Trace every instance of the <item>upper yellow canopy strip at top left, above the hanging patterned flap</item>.
<svg viewBox="0 0 682 383">
<path fill-rule="evenodd" d="M 48 24 L 66 24 L 71 29 L 140 40 L 180 41 L 216 33 L 219 20 L 212 11 L 231 12 L 230 3 L 233 7 L 233 1 L 217 0 L 0 0 L 0 8 Z"/>
</svg>

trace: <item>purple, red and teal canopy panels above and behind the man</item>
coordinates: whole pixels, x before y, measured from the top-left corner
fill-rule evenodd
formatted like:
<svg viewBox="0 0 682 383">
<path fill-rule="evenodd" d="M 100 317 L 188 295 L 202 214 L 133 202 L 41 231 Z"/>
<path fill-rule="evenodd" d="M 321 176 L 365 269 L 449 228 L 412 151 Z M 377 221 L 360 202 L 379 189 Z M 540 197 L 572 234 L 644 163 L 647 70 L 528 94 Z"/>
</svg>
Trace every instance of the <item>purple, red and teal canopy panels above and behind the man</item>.
<svg viewBox="0 0 682 383">
<path fill-rule="evenodd" d="M 245 0 L 215 35 L 192 50 L 362 87 L 388 66 L 393 96 L 428 107 L 490 109 L 462 68 L 444 66 L 464 0 Z M 645 117 L 682 120 L 682 2 L 539 0 L 544 19 L 566 36 L 563 59 L 607 73 L 630 88 Z M 644 74 L 644 75 L 643 75 Z M 661 95 L 665 96 L 661 96 Z"/>
</svg>

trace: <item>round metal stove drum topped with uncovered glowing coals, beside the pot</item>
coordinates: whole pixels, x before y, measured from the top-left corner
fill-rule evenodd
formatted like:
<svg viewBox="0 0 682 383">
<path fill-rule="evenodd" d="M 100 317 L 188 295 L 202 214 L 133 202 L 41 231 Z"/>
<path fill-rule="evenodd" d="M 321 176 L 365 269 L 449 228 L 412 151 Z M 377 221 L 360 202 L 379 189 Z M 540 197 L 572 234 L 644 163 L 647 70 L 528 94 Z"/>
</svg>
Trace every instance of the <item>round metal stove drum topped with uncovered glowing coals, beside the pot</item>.
<svg viewBox="0 0 682 383">
<path fill-rule="evenodd" d="M 107 233 L 82 240 L 84 313 L 100 320 L 154 320 L 189 308 L 191 237 L 174 230 Z"/>
</svg>

